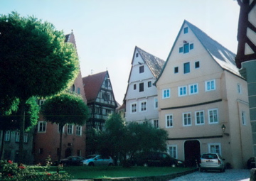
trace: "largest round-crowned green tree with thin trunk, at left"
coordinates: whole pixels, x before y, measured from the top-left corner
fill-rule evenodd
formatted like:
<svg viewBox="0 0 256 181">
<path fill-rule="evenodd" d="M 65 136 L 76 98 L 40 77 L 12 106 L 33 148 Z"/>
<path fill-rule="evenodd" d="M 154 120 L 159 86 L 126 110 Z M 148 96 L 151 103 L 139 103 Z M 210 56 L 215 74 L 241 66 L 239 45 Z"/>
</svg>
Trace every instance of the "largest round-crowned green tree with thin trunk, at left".
<svg viewBox="0 0 256 181">
<path fill-rule="evenodd" d="M 78 75 L 75 47 L 64 41 L 63 32 L 51 23 L 16 12 L 0 16 L 0 97 L 16 97 L 21 104 L 19 163 L 26 101 L 62 92 Z"/>
</svg>

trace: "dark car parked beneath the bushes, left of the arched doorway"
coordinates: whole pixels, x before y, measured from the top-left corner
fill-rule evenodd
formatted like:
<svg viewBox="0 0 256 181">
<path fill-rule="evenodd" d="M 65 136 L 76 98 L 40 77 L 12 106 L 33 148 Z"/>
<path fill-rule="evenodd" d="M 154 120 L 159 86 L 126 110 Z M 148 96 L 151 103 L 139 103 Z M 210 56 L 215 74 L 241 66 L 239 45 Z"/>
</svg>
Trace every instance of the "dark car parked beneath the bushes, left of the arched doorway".
<svg viewBox="0 0 256 181">
<path fill-rule="evenodd" d="M 129 159 L 129 163 L 138 166 L 172 166 L 172 167 L 184 167 L 185 164 L 181 160 L 172 158 L 167 153 L 162 152 L 143 152 L 134 155 L 133 158 Z"/>
</svg>

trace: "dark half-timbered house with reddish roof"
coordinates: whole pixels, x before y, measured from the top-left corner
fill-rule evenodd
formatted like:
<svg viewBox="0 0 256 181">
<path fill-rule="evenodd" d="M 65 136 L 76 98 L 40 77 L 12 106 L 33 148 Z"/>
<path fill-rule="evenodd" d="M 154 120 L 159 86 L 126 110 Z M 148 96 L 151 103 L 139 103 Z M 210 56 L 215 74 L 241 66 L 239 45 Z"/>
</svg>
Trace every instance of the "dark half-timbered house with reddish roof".
<svg viewBox="0 0 256 181">
<path fill-rule="evenodd" d="M 90 110 L 90 119 L 87 120 L 87 140 L 90 138 L 92 128 L 102 130 L 109 114 L 114 114 L 117 102 L 110 82 L 108 71 L 100 72 L 82 78 L 87 106 Z M 90 141 L 86 143 L 86 154 L 95 153 Z"/>
</svg>

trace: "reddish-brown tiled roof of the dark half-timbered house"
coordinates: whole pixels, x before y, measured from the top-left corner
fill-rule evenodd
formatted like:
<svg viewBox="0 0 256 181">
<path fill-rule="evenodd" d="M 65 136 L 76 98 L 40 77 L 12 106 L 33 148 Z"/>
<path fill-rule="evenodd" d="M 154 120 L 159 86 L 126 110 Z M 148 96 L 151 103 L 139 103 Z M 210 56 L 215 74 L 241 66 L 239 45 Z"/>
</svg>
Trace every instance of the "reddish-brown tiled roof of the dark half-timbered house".
<svg viewBox="0 0 256 181">
<path fill-rule="evenodd" d="M 108 72 L 105 71 L 95 75 L 82 77 L 82 83 L 84 85 L 87 103 L 95 102 L 97 94 L 99 94 L 100 87 L 102 86 L 102 83 L 107 74 Z"/>
</svg>

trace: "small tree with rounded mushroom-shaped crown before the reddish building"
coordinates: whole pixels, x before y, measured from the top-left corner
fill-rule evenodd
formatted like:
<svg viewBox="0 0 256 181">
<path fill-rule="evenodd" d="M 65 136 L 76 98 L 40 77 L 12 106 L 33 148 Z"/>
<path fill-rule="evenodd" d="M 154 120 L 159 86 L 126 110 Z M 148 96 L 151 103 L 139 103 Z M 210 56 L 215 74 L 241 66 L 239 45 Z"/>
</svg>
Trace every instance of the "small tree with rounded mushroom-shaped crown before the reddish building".
<svg viewBox="0 0 256 181">
<path fill-rule="evenodd" d="M 63 130 L 65 124 L 83 125 L 89 116 L 89 110 L 82 98 L 68 92 L 46 99 L 41 107 L 41 112 L 47 121 L 59 124 L 60 130 Z M 62 136 L 63 131 L 60 131 L 58 162 L 61 158 Z"/>
</svg>

